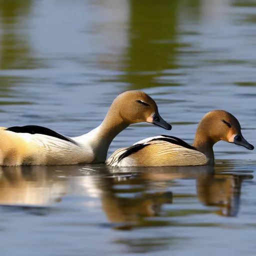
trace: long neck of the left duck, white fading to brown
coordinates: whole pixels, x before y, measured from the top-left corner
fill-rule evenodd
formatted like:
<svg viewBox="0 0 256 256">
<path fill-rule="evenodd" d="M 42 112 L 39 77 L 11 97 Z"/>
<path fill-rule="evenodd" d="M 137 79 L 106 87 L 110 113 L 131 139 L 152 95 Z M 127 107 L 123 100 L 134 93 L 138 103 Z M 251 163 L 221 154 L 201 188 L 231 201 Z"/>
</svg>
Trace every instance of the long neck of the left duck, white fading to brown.
<svg viewBox="0 0 256 256">
<path fill-rule="evenodd" d="M 102 123 L 90 132 L 80 136 L 79 141 L 89 144 L 93 151 L 93 162 L 104 162 L 111 141 L 129 124 L 118 113 L 109 109 Z"/>
</svg>

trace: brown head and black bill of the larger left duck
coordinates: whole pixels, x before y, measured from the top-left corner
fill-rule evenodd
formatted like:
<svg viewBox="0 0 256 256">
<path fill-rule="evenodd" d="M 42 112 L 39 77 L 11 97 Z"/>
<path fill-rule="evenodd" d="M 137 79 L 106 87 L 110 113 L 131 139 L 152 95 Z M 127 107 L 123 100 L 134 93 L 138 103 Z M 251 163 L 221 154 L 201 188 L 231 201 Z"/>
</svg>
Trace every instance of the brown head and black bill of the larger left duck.
<svg viewBox="0 0 256 256">
<path fill-rule="evenodd" d="M 143 91 L 128 90 L 121 93 L 114 99 L 112 107 L 128 124 L 150 122 L 164 129 L 171 129 L 171 125 L 159 115 L 154 100 Z"/>
</svg>

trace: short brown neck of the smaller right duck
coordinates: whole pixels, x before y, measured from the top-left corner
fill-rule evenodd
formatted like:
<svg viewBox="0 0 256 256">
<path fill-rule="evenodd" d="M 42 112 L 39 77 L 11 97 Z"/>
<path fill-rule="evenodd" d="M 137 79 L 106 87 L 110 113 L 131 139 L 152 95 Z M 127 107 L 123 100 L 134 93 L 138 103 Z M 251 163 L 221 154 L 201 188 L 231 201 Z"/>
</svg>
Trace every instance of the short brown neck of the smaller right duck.
<svg viewBox="0 0 256 256">
<path fill-rule="evenodd" d="M 209 162 L 208 162 L 209 164 L 213 164 L 214 163 L 213 145 L 216 142 L 217 141 L 214 141 L 212 138 L 205 135 L 205 132 L 200 132 L 200 130 L 197 130 L 195 133 L 192 146 L 207 156 L 207 158 L 209 159 Z"/>
</svg>

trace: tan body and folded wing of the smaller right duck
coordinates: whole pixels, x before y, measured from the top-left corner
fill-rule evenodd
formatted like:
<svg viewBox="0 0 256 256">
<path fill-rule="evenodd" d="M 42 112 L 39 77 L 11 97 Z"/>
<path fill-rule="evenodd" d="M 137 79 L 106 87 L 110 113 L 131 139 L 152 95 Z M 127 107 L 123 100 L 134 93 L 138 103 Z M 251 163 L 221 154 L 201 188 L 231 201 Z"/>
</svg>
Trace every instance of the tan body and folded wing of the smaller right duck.
<svg viewBox="0 0 256 256">
<path fill-rule="evenodd" d="M 106 161 L 112 166 L 204 165 L 207 157 L 184 140 L 159 135 L 116 150 Z"/>
</svg>

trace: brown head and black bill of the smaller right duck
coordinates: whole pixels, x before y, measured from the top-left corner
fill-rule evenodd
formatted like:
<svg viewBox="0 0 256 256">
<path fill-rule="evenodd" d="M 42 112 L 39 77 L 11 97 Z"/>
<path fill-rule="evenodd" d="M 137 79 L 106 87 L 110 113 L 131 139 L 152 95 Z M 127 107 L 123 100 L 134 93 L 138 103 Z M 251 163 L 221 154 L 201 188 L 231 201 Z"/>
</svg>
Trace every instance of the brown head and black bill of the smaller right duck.
<svg viewBox="0 0 256 256">
<path fill-rule="evenodd" d="M 206 113 L 199 123 L 200 129 L 208 133 L 208 136 L 217 142 L 224 140 L 252 150 L 254 148 L 241 133 L 238 120 L 229 112 L 224 110 L 213 110 Z M 198 126 L 199 126 L 198 125 Z"/>
</svg>

